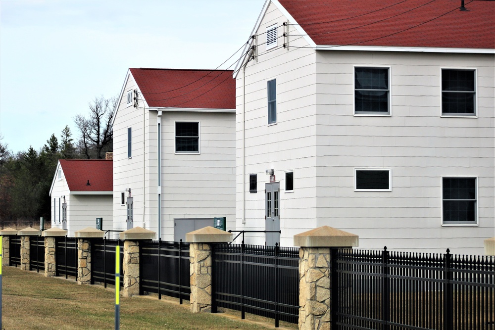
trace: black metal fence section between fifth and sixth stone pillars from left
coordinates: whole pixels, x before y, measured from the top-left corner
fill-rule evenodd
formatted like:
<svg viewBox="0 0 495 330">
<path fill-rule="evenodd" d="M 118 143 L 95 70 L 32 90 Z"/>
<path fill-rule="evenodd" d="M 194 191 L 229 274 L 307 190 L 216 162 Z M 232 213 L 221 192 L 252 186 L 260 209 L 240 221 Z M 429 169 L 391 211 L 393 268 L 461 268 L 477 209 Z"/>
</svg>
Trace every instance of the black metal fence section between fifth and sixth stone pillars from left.
<svg viewBox="0 0 495 330">
<path fill-rule="evenodd" d="M 169 241 L 140 242 L 140 294 L 145 292 L 189 300 L 189 243 Z"/>
</svg>

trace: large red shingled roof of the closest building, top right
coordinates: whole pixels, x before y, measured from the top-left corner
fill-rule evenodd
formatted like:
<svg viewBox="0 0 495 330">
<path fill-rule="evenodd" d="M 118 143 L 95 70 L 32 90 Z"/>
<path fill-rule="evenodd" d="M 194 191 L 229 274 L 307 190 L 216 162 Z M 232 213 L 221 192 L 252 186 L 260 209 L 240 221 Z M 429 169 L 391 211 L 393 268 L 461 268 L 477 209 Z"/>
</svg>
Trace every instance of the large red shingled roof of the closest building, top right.
<svg viewBox="0 0 495 330">
<path fill-rule="evenodd" d="M 279 2 L 316 45 L 495 48 L 494 0 Z"/>
</svg>

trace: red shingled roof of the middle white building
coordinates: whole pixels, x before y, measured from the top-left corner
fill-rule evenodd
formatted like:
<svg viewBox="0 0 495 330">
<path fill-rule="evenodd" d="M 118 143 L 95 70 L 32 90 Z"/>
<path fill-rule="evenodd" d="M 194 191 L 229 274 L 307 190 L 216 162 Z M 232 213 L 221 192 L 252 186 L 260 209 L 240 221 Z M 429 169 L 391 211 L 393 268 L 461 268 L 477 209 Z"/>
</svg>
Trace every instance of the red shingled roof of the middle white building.
<svg viewBox="0 0 495 330">
<path fill-rule="evenodd" d="M 129 70 L 150 107 L 236 108 L 232 70 Z"/>
</svg>

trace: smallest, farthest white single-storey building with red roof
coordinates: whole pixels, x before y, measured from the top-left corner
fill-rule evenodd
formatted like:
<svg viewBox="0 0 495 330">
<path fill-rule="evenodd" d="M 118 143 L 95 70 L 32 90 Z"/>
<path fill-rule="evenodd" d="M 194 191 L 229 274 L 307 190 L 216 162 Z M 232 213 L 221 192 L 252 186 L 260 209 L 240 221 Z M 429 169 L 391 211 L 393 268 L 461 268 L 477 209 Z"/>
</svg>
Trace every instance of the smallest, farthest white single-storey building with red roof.
<svg viewBox="0 0 495 330">
<path fill-rule="evenodd" d="M 102 219 L 104 231 L 113 228 L 112 161 L 60 159 L 50 188 L 51 227 L 68 236 Z"/>
</svg>

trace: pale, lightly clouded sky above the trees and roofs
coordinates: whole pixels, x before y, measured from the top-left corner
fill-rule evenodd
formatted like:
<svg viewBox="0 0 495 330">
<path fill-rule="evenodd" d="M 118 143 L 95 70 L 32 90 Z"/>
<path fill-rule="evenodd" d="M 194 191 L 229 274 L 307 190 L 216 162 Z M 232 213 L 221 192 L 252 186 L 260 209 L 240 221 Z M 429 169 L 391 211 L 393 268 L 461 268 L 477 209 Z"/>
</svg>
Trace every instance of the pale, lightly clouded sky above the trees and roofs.
<svg viewBox="0 0 495 330">
<path fill-rule="evenodd" d="M 130 67 L 214 69 L 245 44 L 264 0 L 0 0 L 0 135 L 40 150 Z M 221 69 L 227 69 L 233 60 Z"/>
</svg>

